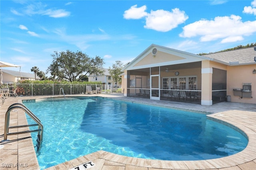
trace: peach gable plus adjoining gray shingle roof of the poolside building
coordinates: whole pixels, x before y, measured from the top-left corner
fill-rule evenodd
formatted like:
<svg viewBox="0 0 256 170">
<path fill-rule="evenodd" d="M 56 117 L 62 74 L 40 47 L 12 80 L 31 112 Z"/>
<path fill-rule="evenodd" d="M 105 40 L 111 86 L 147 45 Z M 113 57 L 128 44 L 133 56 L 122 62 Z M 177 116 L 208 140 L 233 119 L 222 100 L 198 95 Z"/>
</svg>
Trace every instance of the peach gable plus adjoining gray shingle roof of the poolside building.
<svg viewBox="0 0 256 170">
<path fill-rule="evenodd" d="M 161 55 L 158 57 L 153 55 L 151 52 L 156 48 L 157 51 L 161 51 Z M 168 54 L 165 55 L 164 54 Z M 133 70 L 139 68 L 147 68 L 154 66 L 165 66 L 165 65 L 173 65 L 173 64 L 182 64 L 182 63 L 193 63 L 197 61 L 214 61 L 217 63 L 222 63 L 226 65 L 244 65 L 244 64 L 256 64 L 254 61 L 254 57 L 256 57 L 256 51 L 254 51 L 254 47 L 244 48 L 244 49 L 236 49 L 232 51 L 224 51 L 219 53 L 212 53 L 208 55 L 196 55 L 192 53 L 188 53 L 185 51 L 180 51 L 176 49 L 171 49 L 168 47 L 163 47 L 160 45 L 152 44 L 146 50 L 144 50 L 138 57 L 136 57 L 131 63 L 126 65 L 122 71 L 124 70 Z M 163 60 L 165 58 L 165 61 Z"/>
</svg>

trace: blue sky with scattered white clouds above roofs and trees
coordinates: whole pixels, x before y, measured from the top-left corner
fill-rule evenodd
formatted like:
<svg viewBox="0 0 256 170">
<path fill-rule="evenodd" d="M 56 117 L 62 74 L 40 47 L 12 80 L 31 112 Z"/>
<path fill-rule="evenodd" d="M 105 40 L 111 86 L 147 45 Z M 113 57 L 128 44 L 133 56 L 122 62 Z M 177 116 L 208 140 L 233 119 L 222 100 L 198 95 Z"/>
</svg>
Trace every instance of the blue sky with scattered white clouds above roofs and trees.
<svg viewBox="0 0 256 170">
<path fill-rule="evenodd" d="M 0 0 L 0 61 L 46 71 L 54 51 L 132 61 L 151 44 L 194 54 L 256 42 L 256 0 Z"/>
</svg>

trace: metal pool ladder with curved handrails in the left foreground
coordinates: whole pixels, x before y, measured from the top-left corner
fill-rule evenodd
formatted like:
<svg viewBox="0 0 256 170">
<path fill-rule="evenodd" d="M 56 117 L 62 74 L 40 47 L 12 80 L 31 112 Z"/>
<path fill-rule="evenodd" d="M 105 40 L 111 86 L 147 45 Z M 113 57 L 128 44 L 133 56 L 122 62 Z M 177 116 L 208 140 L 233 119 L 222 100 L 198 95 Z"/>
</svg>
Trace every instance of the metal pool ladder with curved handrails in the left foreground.
<svg viewBox="0 0 256 170">
<path fill-rule="evenodd" d="M 22 109 L 25 113 L 27 113 L 36 122 L 36 124 L 19 125 L 19 126 L 10 126 L 9 127 L 10 112 L 14 109 Z M 9 129 L 15 129 L 15 128 L 20 128 L 20 127 L 31 127 L 31 126 L 38 126 L 38 129 L 28 130 L 28 131 L 20 131 L 20 132 L 17 131 L 17 132 L 12 132 L 12 133 L 9 132 Z M 36 139 L 36 142 L 37 142 L 36 147 L 37 147 L 37 152 L 38 152 L 38 150 L 41 148 L 42 141 L 43 141 L 43 129 L 44 129 L 44 127 L 43 127 L 41 121 L 26 106 L 24 106 L 23 104 L 20 104 L 20 103 L 12 104 L 5 113 L 4 140 L 2 140 L 0 142 L 2 143 L 2 142 L 10 141 L 9 139 L 7 139 L 7 136 L 9 136 L 9 135 L 18 135 L 18 134 L 24 134 L 24 133 L 38 132 L 37 139 Z"/>
</svg>

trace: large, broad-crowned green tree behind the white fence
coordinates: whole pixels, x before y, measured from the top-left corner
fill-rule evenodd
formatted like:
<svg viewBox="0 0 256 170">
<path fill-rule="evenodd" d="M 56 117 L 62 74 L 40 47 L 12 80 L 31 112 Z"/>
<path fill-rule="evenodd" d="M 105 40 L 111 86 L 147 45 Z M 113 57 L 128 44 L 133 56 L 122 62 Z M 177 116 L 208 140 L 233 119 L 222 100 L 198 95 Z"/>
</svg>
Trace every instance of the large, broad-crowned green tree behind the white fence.
<svg viewBox="0 0 256 170">
<path fill-rule="evenodd" d="M 66 79 L 70 82 L 80 81 L 87 74 L 98 74 L 103 71 L 104 61 L 100 57 L 90 58 L 81 51 L 72 52 L 67 50 L 58 53 L 54 51 L 52 64 L 46 70 L 55 78 Z"/>
</svg>

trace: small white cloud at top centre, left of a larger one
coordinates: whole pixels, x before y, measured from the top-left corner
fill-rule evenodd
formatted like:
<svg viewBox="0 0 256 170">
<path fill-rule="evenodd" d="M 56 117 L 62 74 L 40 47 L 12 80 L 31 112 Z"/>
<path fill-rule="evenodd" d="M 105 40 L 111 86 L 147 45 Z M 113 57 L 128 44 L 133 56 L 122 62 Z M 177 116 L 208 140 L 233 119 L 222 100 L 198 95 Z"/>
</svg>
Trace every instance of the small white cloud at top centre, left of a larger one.
<svg viewBox="0 0 256 170">
<path fill-rule="evenodd" d="M 137 5 L 132 6 L 129 10 L 124 11 L 124 18 L 129 20 L 129 19 L 140 19 L 145 16 L 147 16 L 147 12 L 145 10 L 147 7 L 144 5 L 140 8 L 137 8 Z"/>
</svg>

